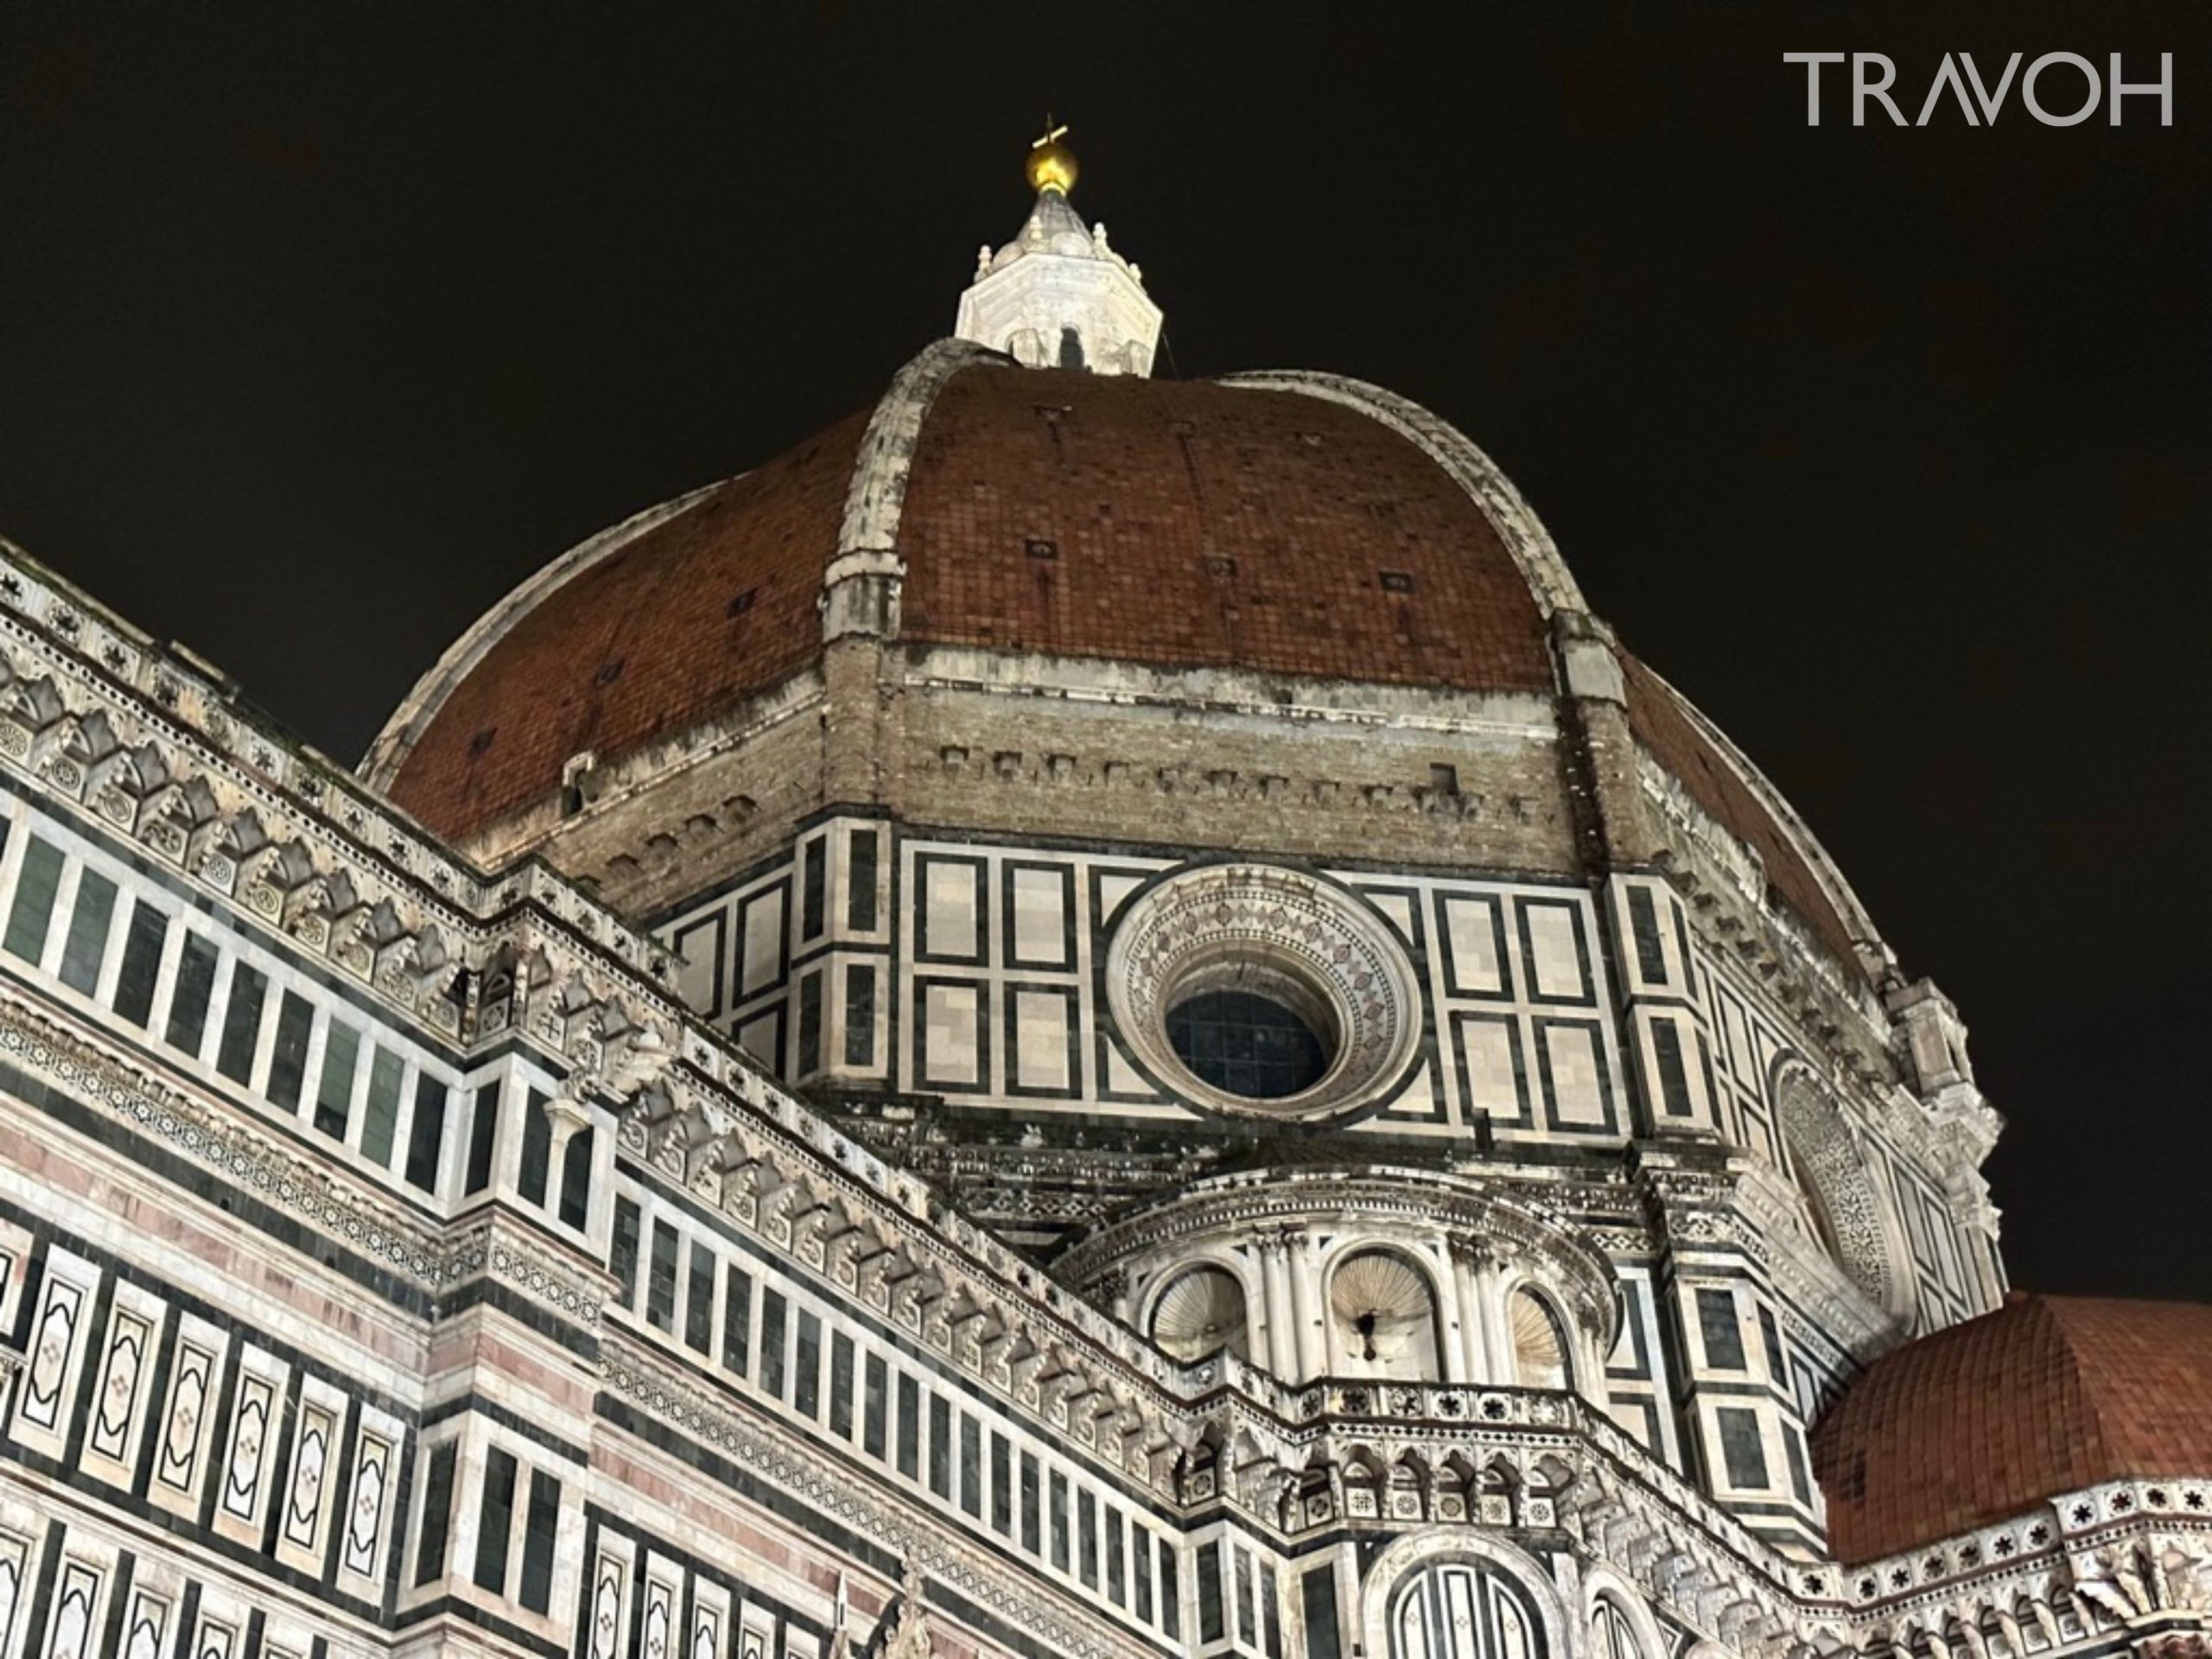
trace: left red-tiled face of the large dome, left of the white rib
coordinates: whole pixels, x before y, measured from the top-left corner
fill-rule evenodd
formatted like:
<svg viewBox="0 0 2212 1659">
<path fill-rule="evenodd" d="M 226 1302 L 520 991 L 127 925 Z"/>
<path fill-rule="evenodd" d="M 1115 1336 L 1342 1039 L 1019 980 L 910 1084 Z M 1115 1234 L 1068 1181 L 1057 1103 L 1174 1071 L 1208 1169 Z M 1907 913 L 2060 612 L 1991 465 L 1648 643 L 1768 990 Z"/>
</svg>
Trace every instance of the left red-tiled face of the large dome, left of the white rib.
<svg viewBox="0 0 2212 1659">
<path fill-rule="evenodd" d="M 416 739 L 392 799 L 460 838 L 557 790 L 571 754 L 606 763 L 672 737 L 818 655 L 865 425 L 717 484 L 524 611 Z"/>
</svg>

